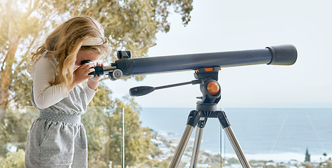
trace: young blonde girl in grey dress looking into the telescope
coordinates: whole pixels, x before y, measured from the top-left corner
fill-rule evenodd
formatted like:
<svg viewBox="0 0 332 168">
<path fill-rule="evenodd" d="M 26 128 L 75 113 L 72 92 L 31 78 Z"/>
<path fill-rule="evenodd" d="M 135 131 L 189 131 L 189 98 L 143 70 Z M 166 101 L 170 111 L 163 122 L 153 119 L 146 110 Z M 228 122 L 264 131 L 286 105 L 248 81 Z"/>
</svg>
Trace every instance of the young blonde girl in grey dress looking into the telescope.
<svg viewBox="0 0 332 168">
<path fill-rule="evenodd" d="M 27 137 L 25 167 L 87 167 L 81 116 L 94 97 L 99 77 L 89 75 L 94 64 L 81 62 L 94 62 L 109 52 L 101 25 L 82 16 L 64 22 L 32 53 L 31 99 L 39 118 Z"/>
</svg>

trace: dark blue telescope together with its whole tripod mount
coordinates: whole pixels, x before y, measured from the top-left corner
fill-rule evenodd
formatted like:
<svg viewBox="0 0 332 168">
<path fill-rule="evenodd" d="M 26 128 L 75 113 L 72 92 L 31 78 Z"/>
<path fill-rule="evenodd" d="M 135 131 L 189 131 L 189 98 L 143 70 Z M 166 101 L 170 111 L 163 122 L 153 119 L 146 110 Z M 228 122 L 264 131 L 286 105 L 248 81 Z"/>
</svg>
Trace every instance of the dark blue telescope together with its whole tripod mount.
<svg viewBox="0 0 332 168">
<path fill-rule="evenodd" d="M 172 71 L 195 70 L 196 80 L 186 83 L 177 83 L 161 87 L 141 86 L 129 90 L 131 96 L 141 96 L 156 89 L 174 87 L 179 85 L 200 84 L 202 97 L 197 97 L 196 110 L 189 113 L 186 129 L 179 141 L 170 168 L 178 167 L 184 149 L 191 137 L 193 128 L 197 126 L 196 137 L 191 155 L 191 168 L 196 168 L 203 128 L 208 118 L 218 118 L 220 125 L 225 130 L 231 146 L 234 148 L 242 167 L 250 168 L 245 159 L 241 146 L 235 137 L 229 120 L 224 111 L 217 110 L 221 99 L 221 89 L 217 82 L 218 71 L 222 67 L 245 66 L 253 64 L 291 65 L 296 62 L 298 52 L 294 45 L 275 45 L 259 50 L 239 50 L 229 52 L 211 52 L 189 55 L 172 55 L 162 57 L 131 58 L 129 51 L 118 51 L 117 60 L 110 66 L 96 66 L 92 72 L 95 76 L 108 75 L 111 80 L 122 76 L 134 76 L 149 73 L 164 73 Z"/>
</svg>

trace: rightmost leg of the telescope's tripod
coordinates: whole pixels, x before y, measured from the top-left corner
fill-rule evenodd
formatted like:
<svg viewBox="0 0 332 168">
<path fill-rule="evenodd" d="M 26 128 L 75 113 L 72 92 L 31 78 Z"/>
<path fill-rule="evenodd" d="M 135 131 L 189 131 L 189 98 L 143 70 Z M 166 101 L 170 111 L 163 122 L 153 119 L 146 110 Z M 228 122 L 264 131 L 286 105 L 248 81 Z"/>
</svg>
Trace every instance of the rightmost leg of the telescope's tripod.
<svg viewBox="0 0 332 168">
<path fill-rule="evenodd" d="M 245 159 L 245 156 L 242 152 L 241 146 L 240 146 L 240 144 L 238 144 L 238 141 L 235 137 L 233 130 L 231 130 L 231 125 L 229 124 L 229 121 L 226 117 L 226 113 L 224 111 L 220 111 L 218 113 L 218 119 L 219 119 L 220 125 L 222 125 L 222 127 L 224 128 L 226 135 L 229 138 L 229 141 L 231 142 L 231 146 L 233 146 L 233 149 L 234 149 L 236 155 L 238 156 L 238 160 L 240 160 L 242 167 L 250 168 L 250 165 L 249 165 L 248 161 Z"/>
</svg>

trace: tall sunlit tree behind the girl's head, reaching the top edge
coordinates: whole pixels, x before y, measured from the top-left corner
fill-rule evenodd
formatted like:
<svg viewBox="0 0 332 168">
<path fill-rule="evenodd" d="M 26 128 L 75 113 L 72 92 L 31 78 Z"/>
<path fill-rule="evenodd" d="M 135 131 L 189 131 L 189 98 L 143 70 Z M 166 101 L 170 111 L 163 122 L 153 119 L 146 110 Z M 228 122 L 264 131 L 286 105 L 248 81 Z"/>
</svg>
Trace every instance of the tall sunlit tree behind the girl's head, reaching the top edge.
<svg viewBox="0 0 332 168">
<path fill-rule="evenodd" d="M 146 57 L 155 34 L 170 30 L 168 15 L 174 9 L 187 25 L 192 0 L 0 0 L 0 122 L 8 103 L 30 105 L 31 78 L 25 71 L 29 52 L 50 30 L 76 15 L 89 15 L 103 25 L 110 46 Z M 114 61 L 104 57 L 104 64 Z M 142 76 L 136 77 L 142 79 Z M 22 92 L 23 89 L 25 92 Z"/>
</svg>

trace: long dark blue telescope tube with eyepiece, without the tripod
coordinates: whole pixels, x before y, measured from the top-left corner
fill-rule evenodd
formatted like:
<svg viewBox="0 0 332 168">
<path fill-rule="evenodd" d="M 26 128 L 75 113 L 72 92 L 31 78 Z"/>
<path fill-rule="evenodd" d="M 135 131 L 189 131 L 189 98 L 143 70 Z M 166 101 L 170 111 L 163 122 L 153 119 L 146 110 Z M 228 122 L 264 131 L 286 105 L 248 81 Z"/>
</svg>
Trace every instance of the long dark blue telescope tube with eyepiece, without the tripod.
<svg viewBox="0 0 332 168">
<path fill-rule="evenodd" d="M 205 67 L 230 67 L 253 64 L 291 65 L 297 59 L 294 45 L 275 45 L 258 50 L 210 52 L 189 55 L 131 58 L 130 51 L 118 51 L 110 66 L 95 66 L 94 76 L 108 75 L 110 80 L 122 77 L 188 71 Z"/>
</svg>

